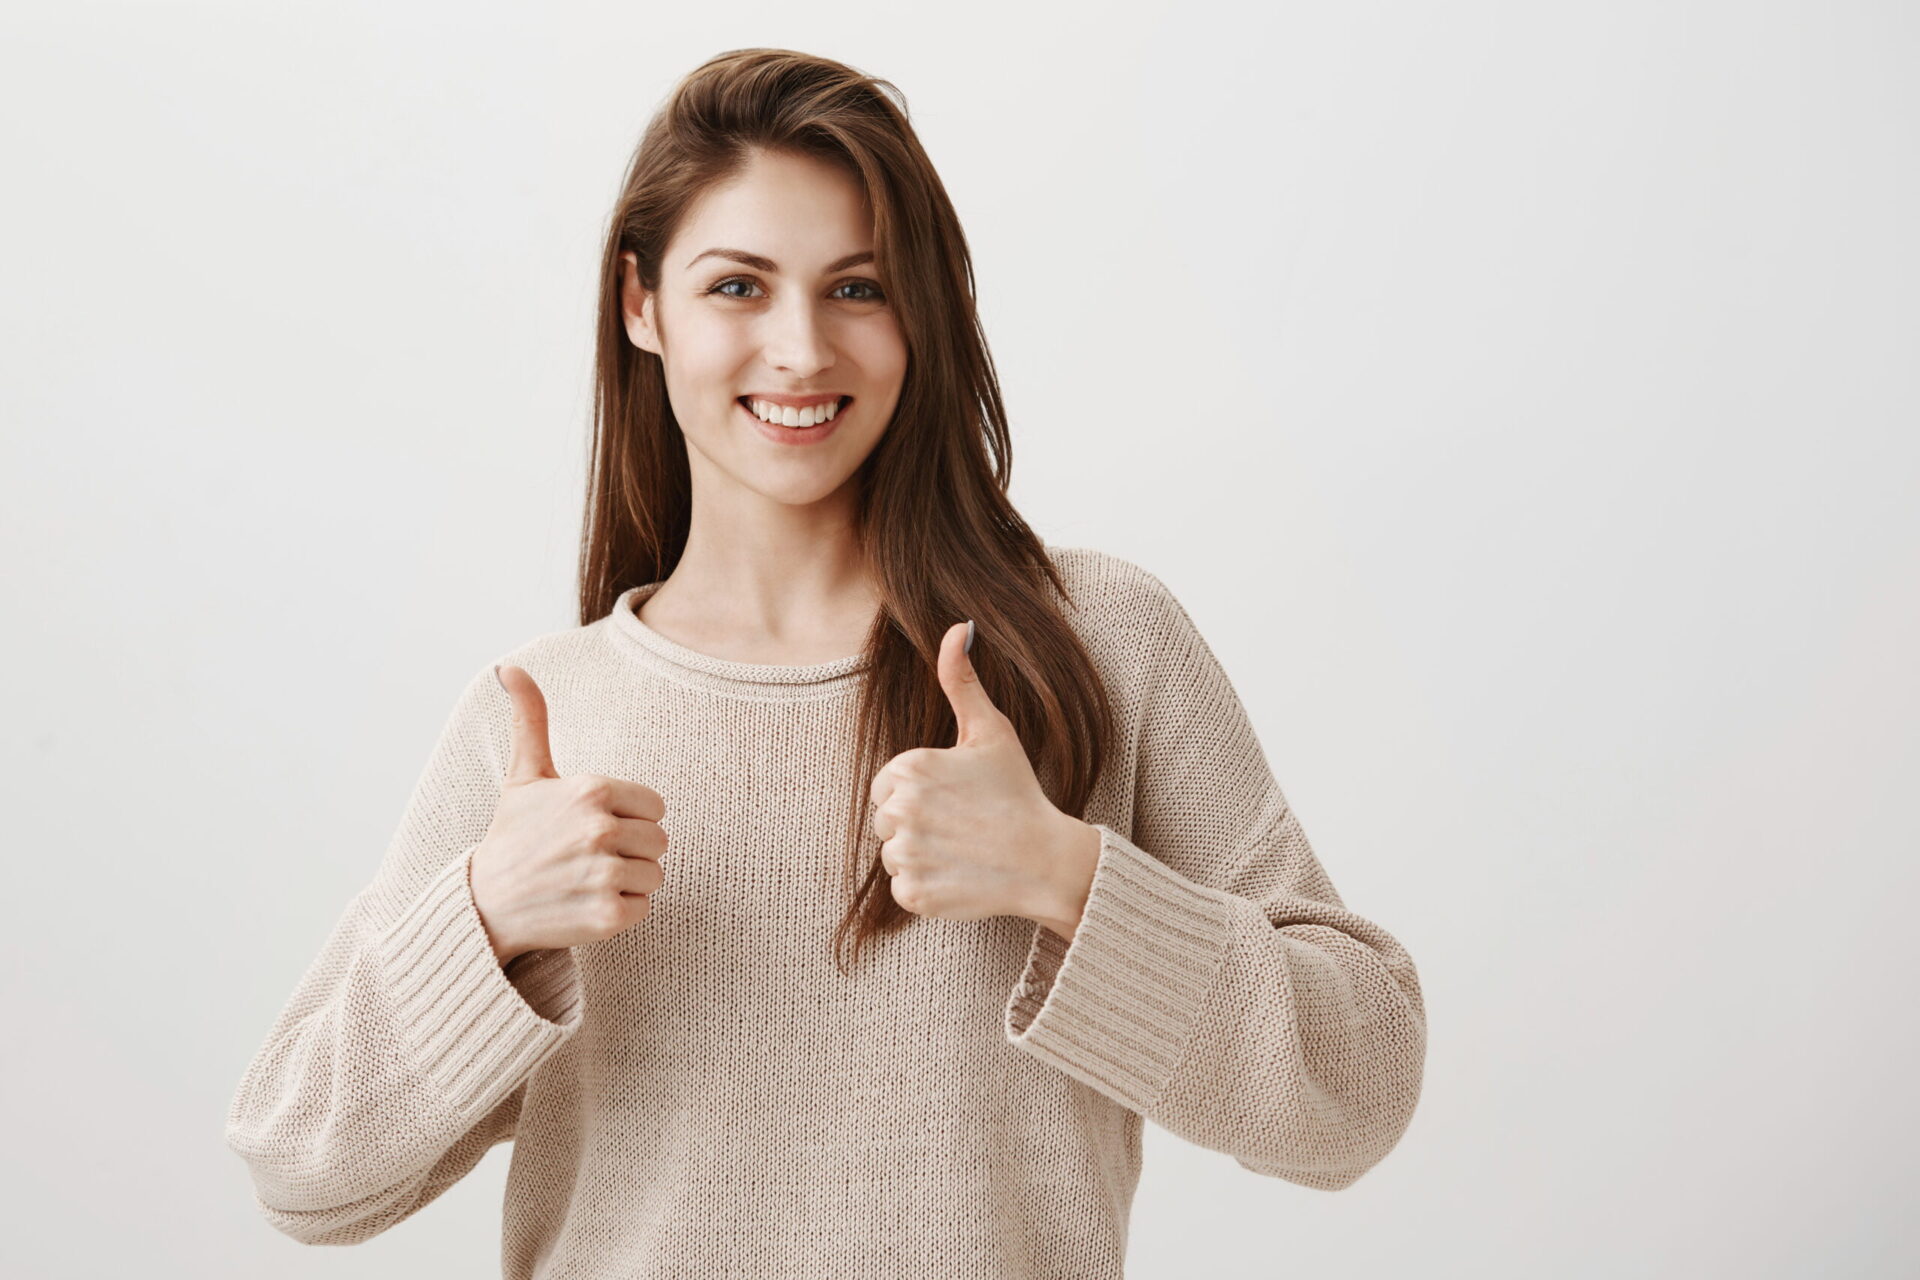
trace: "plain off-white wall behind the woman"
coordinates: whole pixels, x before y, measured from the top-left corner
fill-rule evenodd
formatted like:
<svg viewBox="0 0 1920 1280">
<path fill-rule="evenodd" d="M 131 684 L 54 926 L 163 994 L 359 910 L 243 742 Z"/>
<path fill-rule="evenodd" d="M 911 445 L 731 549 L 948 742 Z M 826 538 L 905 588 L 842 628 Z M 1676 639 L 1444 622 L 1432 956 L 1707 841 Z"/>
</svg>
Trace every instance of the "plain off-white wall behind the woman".
<svg viewBox="0 0 1920 1280">
<path fill-rule="evenodd" d="M 574 626 L 593 276 L 741 46 L 895 81 L 1052 543 L 1164 578 L 1419 1115 L 1148 1126 L 1129 1276 L 1901 1276 L 1920 877 L 1901 4 L 63 4 L 0 19 L 8 1276 L 497 1274 L 223 1115 L 461 683 Z"/>
</svg>

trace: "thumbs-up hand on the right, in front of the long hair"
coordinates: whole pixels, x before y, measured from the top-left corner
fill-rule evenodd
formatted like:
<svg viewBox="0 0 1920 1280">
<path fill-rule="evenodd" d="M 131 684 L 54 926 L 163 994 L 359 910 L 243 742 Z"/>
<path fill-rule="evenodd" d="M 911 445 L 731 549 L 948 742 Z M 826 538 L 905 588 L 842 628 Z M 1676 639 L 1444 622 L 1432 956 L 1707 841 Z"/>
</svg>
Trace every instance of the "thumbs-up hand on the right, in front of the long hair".
<svg viewBox="0 0 1920 1280">
<path fill-rule="evenodd" d="M 972 645 L 972 622 L 941 637 L 954 745 L 900 752 L 868 789 L 893 900 L 941 919 L 1021 915 L 1071 938 L 1100 833 L 1041 791 L 1014 722 L 979 683 Z"/>
</svg>

